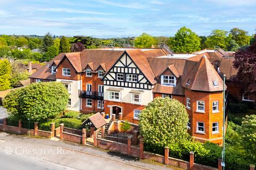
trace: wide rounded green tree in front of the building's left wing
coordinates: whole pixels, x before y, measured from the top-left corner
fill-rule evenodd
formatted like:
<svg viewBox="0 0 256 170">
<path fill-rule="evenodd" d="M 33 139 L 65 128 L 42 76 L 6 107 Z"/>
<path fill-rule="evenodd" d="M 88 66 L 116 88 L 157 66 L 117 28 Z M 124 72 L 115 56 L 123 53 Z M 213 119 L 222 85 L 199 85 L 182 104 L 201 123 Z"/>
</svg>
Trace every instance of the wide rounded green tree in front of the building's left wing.
<svg viewBox="0 0 256 170">
<path fill-rule="evenodd" d="M 3 105 L 11 116 L 43 121 L 60 115 L 67 108 L 68 98 L 68 91 L 60 82 L 41 82 L 12 90 Z"/>
</svg>

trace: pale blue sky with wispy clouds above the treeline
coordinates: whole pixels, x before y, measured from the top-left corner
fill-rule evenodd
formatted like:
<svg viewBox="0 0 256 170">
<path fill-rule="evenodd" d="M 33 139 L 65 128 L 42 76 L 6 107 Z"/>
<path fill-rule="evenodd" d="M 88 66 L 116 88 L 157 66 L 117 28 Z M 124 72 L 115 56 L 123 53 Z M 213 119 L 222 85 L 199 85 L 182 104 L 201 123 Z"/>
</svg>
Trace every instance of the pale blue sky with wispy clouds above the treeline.
<svg viewBox="0 0 256 170">
<path fill-rule="evenodd" d="M 0 35 L 173 36 L 256 27 L 256 0 L 0 0 Z"/>
</svg>

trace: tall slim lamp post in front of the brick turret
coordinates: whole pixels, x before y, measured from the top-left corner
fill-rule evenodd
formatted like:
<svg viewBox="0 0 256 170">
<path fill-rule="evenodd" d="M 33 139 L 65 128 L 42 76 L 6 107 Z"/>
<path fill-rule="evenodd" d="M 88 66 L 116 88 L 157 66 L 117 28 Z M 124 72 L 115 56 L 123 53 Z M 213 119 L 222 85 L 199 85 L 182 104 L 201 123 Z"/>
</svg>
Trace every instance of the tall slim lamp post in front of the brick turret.
<svg viewBox="0 0 256 170">
<path fill-rule="evenodd" d="M 222 129 L 222 135 L 223 135 L 223 147 L 222 147 L 222 161 L 221 166 L 222 169 L 225 170 L 225 109 L 226 109 L 226 98 L 225 98 L 225 80 L 226 75 L 223 74 L 223 129 Z"/>
</svg>

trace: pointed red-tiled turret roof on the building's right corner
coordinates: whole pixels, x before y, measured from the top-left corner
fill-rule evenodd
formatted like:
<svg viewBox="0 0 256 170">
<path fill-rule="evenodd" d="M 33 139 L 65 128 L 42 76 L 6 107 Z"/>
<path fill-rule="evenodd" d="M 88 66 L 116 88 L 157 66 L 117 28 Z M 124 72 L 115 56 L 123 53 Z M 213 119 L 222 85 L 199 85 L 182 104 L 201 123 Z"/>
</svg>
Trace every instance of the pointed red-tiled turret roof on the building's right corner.
<svg viewBox="0 0 256 170">
<path fill-rule="evenodd" d="M 214 86 L 213 81 L 217 82 L 218 86 Z M 184 78 L 182 87 L 198 91 L 222 91 L 223 81 L 206 55 L 203 55 L 194 69 Z"/>
</svg>

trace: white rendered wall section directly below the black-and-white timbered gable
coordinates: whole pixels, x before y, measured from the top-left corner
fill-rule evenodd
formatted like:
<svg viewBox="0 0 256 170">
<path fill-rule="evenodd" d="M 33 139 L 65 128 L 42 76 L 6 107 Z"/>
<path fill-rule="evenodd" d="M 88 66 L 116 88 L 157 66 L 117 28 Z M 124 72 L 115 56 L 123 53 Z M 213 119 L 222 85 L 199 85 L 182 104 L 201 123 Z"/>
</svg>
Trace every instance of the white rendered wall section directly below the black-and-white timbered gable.
<svg viewBox="0 0 256 170">
<path fill-rule="evenodd" d="M 109 99 L 109 90 L 108 88 L 121 88 L 123 89 L 120 91 L 121 93 L 121 100 L 111 100 Z M 140 105 L 148 105 L 150 101 L 153 101 L 153 90 L 144 90 L 144 89 L 134 89 L 134 88 L 125 88 L 125 87 L 114 87 L 114 86 L 106 86 L 104 85 L 104 100 L 109 101 L 118 101 L 118 102 L 125 102 L 125 103 L 132 103 L 132 93 L 131 90 L 136 91 L 143 91 L 141 93 L 141 104 Z M 133 103 L 132 103 L 133 104 Z"/>
</svg>

